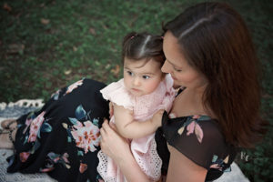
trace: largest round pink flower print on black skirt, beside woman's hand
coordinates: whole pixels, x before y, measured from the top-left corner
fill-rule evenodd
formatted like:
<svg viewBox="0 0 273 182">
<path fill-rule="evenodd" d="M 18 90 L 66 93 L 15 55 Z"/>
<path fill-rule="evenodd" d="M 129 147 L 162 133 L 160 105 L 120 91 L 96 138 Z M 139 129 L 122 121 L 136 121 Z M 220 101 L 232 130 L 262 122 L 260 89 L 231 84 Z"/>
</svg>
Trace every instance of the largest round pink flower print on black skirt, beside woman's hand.
<svg viewBox="0 0 273 182">
<path fill-rule="evenodd" d="M 85 153 L 87 153 L 88 150 L 94 152 L 99 145 L 99 128 L 90 121 L 86 121 L 84 125 L 85 126 L 75 125 L 71 134 L 76 140 L 76 147 L 84 148 Z"/>
</svg>

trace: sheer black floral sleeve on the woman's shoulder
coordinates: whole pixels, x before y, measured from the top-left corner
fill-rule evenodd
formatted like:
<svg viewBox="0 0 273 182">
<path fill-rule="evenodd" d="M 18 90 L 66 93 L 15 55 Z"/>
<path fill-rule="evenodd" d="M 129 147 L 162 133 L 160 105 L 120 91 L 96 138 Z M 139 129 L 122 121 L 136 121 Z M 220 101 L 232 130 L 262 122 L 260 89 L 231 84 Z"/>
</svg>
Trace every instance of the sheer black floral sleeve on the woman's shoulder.
<svg viewBox="0 0 273 182">
<path fill-rule="evenodd" d="M 234 157 L 217 122 L 208 116 L 186 116 L 169 119 L 164 113 L 162 128 L 167 144 L 207 170 L 224 171 Z"/>
</svg>

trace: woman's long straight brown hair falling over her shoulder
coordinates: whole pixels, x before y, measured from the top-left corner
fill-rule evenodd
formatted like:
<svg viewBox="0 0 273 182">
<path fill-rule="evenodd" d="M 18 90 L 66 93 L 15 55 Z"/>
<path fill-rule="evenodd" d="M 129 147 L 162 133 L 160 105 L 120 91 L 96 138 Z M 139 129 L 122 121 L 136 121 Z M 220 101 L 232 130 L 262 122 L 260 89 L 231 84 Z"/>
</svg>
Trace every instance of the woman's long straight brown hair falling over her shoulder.
<svg viewBox="0 0 273 182">
<path fill-rule="evenodd" d="M 177 37 L 188 63 L 207 77 L 204 105 L 229 144 L 254 147 L 265 134 L 260 118 L 258 57 L 241 16 L 225 3 L 187 8 L 163 27 Z"/>
</svg>

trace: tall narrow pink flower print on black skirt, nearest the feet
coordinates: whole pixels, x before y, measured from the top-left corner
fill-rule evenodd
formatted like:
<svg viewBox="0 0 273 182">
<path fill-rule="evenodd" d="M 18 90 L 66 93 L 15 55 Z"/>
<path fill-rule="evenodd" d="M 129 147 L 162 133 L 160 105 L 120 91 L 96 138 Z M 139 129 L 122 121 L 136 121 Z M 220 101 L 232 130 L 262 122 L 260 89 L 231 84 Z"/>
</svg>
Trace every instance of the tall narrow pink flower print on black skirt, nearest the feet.
<svg viewBox="0 0 273 182">
<path fill-rule="evenodd" d="M 36 140 L 37 134 L 42 126 L 43 122 L 45 121 L 45 111 L 42 112 L 40 115 L 36 116 L 35 119 L 30 124 L 29 130 L 29 137 L 28 142 L 34 142 Z"/>
</svg>

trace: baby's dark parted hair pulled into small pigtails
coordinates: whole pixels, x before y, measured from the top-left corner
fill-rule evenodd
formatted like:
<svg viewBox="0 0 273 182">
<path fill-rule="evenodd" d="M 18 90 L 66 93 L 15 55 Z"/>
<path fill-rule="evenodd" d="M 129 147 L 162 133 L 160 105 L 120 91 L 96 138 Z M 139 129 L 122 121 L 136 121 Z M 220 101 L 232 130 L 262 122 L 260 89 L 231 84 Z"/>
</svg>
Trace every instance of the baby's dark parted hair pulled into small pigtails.
<svg viewBox="0 0 273 182">
<path fill-rule="evenodd" d="M 163 66 L 165 56 L 163 53 L 163 38 L 146 32 L 127 34 L 122 43 L 122 62 L 125 57 L 133 60 L 154 59 Z"/>
</svg>

